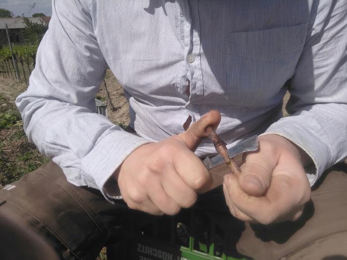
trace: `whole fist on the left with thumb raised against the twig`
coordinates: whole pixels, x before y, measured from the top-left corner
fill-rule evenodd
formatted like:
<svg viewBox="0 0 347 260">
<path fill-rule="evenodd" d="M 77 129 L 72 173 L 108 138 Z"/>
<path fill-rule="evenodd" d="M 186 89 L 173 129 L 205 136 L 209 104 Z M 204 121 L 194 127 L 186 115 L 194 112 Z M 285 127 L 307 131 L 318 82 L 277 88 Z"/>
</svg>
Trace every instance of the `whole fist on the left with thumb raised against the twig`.
<svg viewBox="0 0 347 260">
<path fill-rule="evenodd" d="M 212 178 L 194 154 L 206 128 L 217 128 L 221 115 L 210 111 L 187 131 L 159 143 L 143 145 L 133 151 L 118 168 L 118 186 L 129 208 L 147 213 L 173 215 L 191 207 L 197 193 L 212 186 Z"/>
</svg>

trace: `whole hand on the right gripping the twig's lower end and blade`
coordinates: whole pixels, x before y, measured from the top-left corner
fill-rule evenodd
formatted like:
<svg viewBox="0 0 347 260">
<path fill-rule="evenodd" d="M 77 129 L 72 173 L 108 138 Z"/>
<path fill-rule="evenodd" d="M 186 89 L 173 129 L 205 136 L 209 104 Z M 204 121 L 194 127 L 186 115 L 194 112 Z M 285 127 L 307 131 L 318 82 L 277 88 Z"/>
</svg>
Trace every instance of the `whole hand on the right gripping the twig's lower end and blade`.
<svg viewBox="0 0 347 260">
<path fill-rule="evenodd" d="M 248 153 L 241 174 L 224 176 L 231 214 L 243 221 L 270 224 L 296 220 L 310 199 L 310 185 L 298 149 L 286 138 L 259 137 L 259 150 Z"/>
</svg>

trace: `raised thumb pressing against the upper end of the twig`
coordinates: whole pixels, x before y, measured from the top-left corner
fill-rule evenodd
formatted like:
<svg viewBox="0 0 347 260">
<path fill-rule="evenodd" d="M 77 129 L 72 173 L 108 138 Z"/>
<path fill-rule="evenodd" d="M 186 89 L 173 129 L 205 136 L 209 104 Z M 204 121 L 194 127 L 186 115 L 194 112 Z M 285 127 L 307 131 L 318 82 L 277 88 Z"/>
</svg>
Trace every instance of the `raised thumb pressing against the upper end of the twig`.
<svg viewBox="0 0 347 260">
<path fill-rule="evenodd" d="M 217 128 L 221 122 L 221 114 L 217 110 L 211 110 L 204 114 L 198 121 L 193 123 L 189 128 L 178 136 L 184 141 L 191 151 L 195 151 L 200 142 L 208 137 L 206 128 L 212 126 Z"/>
</svg>

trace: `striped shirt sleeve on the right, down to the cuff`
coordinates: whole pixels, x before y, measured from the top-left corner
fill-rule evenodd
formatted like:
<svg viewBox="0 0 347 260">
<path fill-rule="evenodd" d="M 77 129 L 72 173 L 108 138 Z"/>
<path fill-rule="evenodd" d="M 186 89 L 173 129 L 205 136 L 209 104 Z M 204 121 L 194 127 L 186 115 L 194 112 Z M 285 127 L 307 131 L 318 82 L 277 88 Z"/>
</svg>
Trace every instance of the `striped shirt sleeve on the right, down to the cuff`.
<svg viewBox="0 0 347 260">
<path fill-rule="evenodd" d="M 286 137 L 312 158 L 311 186 L 347 156 L 347 2 L 322 1 L 313 14 L 290 82 L 292 114 L 265 133 Z"/>
</svg>

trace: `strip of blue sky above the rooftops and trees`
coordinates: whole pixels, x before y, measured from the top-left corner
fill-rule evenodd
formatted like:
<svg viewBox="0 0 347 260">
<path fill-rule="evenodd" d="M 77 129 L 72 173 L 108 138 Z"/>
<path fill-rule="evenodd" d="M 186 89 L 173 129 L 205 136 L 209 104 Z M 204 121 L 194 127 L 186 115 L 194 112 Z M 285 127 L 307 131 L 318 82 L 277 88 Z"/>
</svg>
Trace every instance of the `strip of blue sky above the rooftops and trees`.
<svg viewBox="0 0 347 260">
<path fill-rule="evenodd" d="M 24 13 L 25 17 L 31 17 L 33 13 L 41 12 L 51 16 L 52 0 L 0 0 L 0 8 L 10 10 L 14 16 Z"/>
</svg>

